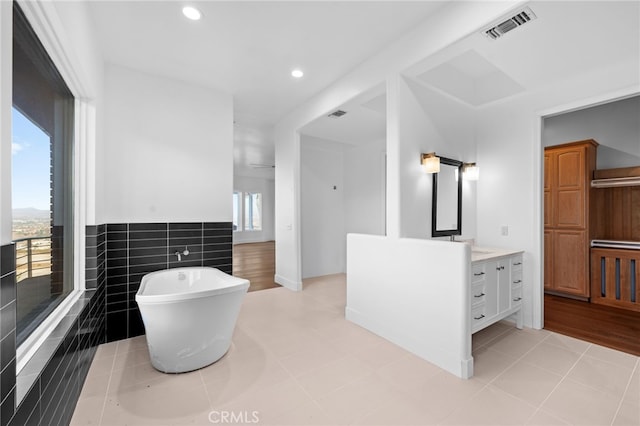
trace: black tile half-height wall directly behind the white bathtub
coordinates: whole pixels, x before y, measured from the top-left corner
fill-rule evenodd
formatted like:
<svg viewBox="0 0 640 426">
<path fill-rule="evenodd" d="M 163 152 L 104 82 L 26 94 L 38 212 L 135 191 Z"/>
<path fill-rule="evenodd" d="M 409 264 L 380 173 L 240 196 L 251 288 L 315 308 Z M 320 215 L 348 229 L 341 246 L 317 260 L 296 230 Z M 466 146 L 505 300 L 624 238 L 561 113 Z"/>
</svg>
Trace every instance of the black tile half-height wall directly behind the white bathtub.
<svg viewBox="0 0 640 426">
<path fill-rule="evenodd" d="M 231 222 L 107 224 L 107 341 L 144 334 L 135 295 L 145 274 L 184 266 L 212 266 L 230 274 L 232 238 Z M 175 252 L 185 247 L 189 255 L 178 262 Z M 100 255 L 97 250 L 96 258 Z"/>
</svg>

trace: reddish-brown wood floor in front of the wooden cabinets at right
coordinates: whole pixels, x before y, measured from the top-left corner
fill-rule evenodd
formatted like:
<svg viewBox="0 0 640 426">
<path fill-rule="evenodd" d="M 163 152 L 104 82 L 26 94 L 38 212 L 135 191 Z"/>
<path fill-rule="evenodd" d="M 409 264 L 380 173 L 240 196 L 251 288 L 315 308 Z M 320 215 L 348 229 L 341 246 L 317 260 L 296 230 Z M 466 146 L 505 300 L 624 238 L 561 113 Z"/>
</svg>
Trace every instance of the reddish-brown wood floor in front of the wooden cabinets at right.
<svg viewBox="0 0 640 426">
<path fill-rule="evenodd" d="M 640 356 L 640 312 L 545 294 L 544 328 Z"/>
</svg>

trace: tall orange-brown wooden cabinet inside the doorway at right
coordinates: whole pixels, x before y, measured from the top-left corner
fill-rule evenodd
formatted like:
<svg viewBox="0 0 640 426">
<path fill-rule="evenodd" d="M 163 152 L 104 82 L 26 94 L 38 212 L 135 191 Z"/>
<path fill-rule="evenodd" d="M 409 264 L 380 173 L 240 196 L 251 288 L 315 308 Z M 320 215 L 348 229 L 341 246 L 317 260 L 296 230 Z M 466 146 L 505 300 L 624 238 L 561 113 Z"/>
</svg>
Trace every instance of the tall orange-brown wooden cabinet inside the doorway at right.
<svg viewBox="0 0 640 426">
<path fill-rule="evenodd" d="M 544 287 L 551 293 L 590 295 L 589 203 L 596 166 L 594 140 L 545 148 Z"/>
</svg>

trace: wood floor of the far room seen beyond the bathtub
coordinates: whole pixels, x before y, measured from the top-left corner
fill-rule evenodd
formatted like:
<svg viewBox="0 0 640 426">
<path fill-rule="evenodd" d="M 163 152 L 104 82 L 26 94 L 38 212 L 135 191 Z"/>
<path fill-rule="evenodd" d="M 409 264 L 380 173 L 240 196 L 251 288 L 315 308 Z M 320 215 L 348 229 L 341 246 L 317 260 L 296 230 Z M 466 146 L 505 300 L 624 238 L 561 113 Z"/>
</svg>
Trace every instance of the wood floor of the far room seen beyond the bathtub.
<svg viewBox="0 0 640 426">
<path fill-rule="evenodd" d="M 249 291 L 280 287 L 273 281 L 275 273 L 275 241 L 233 246 L 233 275 L 248 279 Z"/>
</svg>

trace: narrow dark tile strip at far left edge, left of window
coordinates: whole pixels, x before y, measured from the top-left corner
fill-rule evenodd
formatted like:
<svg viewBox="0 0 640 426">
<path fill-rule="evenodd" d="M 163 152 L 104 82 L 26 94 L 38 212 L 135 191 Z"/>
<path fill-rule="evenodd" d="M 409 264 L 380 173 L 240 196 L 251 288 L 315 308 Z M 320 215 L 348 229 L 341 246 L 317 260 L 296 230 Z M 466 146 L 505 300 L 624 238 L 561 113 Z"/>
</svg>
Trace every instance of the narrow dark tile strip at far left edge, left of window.
<svg viewBox="0 0 640 426">
<path fill-rule="evenodd" d="M 16 254 L 14 244 L 0 247 L 0 423 L 16 405 Z"/>
</svg>

